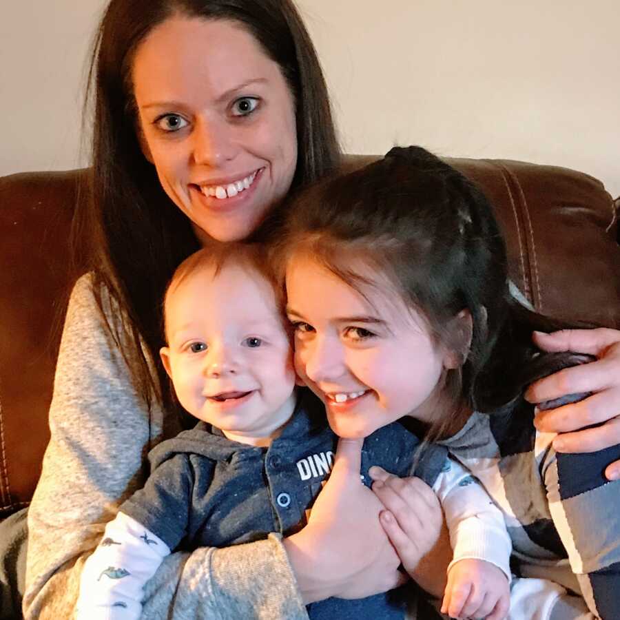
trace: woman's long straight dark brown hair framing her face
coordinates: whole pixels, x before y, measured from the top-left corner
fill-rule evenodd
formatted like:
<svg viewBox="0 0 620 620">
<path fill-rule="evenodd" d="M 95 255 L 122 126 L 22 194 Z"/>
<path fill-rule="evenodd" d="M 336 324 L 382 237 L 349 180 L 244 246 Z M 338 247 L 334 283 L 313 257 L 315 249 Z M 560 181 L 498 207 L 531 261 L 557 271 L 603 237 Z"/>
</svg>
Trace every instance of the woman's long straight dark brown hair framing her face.
<svg viewBox="0 0 620 620">
<path fill-rule="evenodd" d="M 106 291 L 122 318 L 114 325 L 106 318 L 107 326 L 149 406 L 153 396 L 171 402 L 163 371 L 155 376 L 148 360 L 157 359 L 163 344 L 159 312 L 165 286 L 180 262 L 199 247 L 188 218 L 163 191 L 136 136 L 134 54 L 157 25 L 174 15 L 234 21 L 278 63 L 296 103 L 298 163 L 291 189 L 334 169 L 340 156 L 316 51 L 290 0 L 110 2 L 90 66 L 90 187 L 88 199 L 76 209 L 72 236 L 74 247 L 83 247 L 87 239 L 99 308 L 103 313 Z"/>
</svg>

